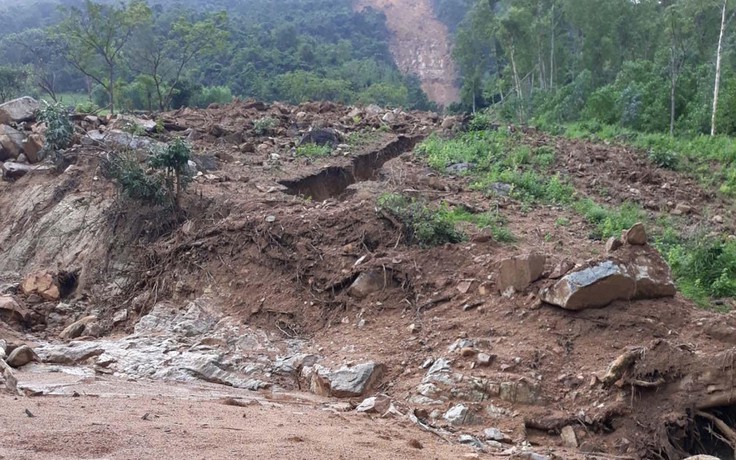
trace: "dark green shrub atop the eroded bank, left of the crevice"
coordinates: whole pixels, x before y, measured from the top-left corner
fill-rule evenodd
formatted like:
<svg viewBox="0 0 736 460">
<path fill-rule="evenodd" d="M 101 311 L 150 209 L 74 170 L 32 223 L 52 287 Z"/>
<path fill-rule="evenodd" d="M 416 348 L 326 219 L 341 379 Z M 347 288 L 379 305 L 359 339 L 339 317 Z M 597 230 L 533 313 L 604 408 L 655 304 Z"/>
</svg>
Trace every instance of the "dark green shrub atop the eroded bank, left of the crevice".
<svg viewBox="0 0 736 460">
<path fill-rule="evenodd" d="M 191 148 L 182 139 L 154 147 L 148 167 L 135 152 L 114 151 L 102 163 L 105 177 L 115 180 L 122 194 L 145 204 L 179 208 L 181 192 L 191 180 L 188 164 Z"/>
</svg>

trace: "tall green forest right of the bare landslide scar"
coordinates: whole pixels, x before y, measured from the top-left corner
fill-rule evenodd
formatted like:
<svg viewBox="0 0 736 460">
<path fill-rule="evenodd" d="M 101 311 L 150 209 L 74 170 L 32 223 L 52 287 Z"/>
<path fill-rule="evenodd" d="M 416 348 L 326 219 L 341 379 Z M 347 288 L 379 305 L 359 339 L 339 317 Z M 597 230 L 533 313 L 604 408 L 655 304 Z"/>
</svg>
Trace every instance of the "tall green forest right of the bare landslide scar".
<svg viewBox="0 0 736 460">
<path fill-rule="evenodd" d="M 477 1 L 455 36 L 459 108 L 734 134 L 735 15 L 731 0 Z"/>
</svg>

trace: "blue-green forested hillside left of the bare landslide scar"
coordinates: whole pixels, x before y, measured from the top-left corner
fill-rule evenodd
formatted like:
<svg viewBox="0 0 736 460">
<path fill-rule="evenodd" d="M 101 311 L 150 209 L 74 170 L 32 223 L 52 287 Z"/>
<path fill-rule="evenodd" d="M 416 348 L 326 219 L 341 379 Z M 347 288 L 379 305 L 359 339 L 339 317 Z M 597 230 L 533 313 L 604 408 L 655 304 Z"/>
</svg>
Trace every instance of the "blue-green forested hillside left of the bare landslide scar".
<svg viewBox="0 0 736 460">
<path fill-rule="evenodd" d="M 161 110 L 233 96 L 428 109 L 388 49 L 382 13 L 349 1 L 10 3 L 0 9 L 0 100 L 87 93 Z"/>
</svg>

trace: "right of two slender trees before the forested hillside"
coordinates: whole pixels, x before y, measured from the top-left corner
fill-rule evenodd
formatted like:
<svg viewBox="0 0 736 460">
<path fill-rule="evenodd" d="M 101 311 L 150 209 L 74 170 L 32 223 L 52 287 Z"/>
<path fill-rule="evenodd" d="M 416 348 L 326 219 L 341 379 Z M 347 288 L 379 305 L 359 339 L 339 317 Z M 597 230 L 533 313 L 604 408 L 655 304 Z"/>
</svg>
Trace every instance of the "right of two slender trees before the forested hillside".
<svg viewBox="0 0 736 460">
<path fill-rule="evenodd" d="M 227 14 L 207 15 L 193 22 L 185 16 L 173 24 L 146 23 L 131 42 L 130 68 L 153 81 L 158 108 L 170 105 L 188 65 L 222 51 L 229 38 Z"/>
</svg>

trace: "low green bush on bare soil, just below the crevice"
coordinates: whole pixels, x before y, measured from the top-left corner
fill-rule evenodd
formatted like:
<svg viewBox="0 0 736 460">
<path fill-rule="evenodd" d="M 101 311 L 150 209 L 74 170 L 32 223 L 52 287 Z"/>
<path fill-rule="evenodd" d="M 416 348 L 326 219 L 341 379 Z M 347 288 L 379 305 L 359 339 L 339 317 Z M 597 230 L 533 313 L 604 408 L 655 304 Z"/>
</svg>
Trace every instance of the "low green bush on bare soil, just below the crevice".
<svg viewBox="0 0 736 460">
<path fill-rule="evenodd" d="M 446 209 L 431 209 L 421 201 L 396 193 L 381 195 L 378 208 L 400 222 L 406 244 L 428 248 L 464 239 Z"/>
</svg>

